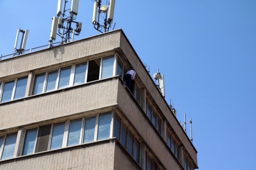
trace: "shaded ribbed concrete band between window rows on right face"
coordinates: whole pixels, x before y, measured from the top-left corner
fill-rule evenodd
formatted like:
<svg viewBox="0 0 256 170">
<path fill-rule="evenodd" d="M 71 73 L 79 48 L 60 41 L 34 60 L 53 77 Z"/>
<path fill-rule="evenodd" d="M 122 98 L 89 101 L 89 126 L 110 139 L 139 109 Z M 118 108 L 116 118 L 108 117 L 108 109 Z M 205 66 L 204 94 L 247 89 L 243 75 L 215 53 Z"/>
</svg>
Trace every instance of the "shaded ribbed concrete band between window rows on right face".
<svg viewBox="0 0 256 170">
<path fill-rule="evenodd" d="M 145 143 L 152 149 L 158 159 L 161 160 L 163 166 L 166 169 L 182 170 L 181 164 L 176 160 L 167 144 L 155 130 L 143 110 L 138 107 L 138 103 L 135 102 L 135 99 L 130 95 L 125 88 L 125 84 L 121 83 L 121 81 L 118 83 L 117 103 L 118 107 L 145 140 Z"/>
</svg>

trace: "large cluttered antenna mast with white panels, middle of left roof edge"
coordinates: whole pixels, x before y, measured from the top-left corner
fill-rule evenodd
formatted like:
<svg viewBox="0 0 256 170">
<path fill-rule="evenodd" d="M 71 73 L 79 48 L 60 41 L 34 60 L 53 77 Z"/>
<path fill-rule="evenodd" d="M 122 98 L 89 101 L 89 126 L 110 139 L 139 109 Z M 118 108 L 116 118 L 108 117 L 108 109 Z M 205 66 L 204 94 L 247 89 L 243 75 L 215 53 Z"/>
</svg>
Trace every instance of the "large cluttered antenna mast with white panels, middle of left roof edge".
<svg viewBox="0 0 256 170">
<path fill-rule="evenodd" d="M 71 8 L 66 10 L 67 3 L 71 1 Z M 62 5 L 64 2 L 64 9 L 62 12 Z M 49 48 L 53 46 L 53 41 L 56 39 L 56 35 L 61 37 L 61 44 L 64 42 L 70 42 L 70 34 L 72 33 L 72 40 L 74 35 L 78 36 L 82 30 L 82 22 L 74 21 L 78 14 L 79 0 L 58 0 L 57 17 L 53 17 L 51 36 L 49 40 Z M 69 16 L 66 12 L 69 11 Z M 72 23 L 75 24 L 75 28 L 72 28 Z M 58 32 L 57 32 L 58 31 Z"/>
</svg>

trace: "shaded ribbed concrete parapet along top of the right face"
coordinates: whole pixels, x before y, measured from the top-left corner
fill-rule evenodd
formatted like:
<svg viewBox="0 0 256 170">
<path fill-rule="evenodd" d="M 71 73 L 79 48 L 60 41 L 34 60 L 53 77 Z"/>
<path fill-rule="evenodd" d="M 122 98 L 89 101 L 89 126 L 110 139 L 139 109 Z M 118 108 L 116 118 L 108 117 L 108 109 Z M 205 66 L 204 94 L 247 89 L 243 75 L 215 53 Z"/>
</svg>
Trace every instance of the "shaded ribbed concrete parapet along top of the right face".
<svg viewBox="0 0 256 170">
<path fill-rule="evenodd" d="M 131 65 L 136 70 L 138 77 L 145 84 L 148 93 L 153 97 L 154 101 L 156 102 L 156 104 L 158 105 L 158 107 L 166 117 L 167 121 L 171 124 L 175 133 L 177 134 L 181 142 L 184 144 L 184 147 L 188 150 L 190 156 L 197 164 L 196 150 L 193 148 L 189 138 L 186 137 L 186 134 L 182 130 L 179 122 L 176 120 L 175 116 L 170 111 L 168 104 L 163 101 L 164 99 L 162 95 L 159 93 L 159 91 L 155 87 L 155 83 L 152 81 L 152 78 L 148 75 L 147 70 L 145 69 L 145 67 L 137 57 L 137 54 L 132 49 L 131 45 L 129 44 L 123 32 L 121 33 L 121 36 L 120 36 L 120 49 L 128 58 Z"/>
</svg>

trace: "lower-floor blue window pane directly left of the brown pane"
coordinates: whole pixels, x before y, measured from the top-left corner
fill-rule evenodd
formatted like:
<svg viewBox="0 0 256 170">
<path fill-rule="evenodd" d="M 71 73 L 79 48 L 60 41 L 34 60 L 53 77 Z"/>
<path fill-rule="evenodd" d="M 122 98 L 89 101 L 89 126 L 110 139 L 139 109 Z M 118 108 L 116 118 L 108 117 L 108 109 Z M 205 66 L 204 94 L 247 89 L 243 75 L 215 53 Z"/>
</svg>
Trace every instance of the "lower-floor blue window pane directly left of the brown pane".
<svg viewBox="0 0 256 170">
<path fill-rule="evenodd" d="M 22 155 L 34 153 L 37 128 L 26 130 Z"/>
</svg>

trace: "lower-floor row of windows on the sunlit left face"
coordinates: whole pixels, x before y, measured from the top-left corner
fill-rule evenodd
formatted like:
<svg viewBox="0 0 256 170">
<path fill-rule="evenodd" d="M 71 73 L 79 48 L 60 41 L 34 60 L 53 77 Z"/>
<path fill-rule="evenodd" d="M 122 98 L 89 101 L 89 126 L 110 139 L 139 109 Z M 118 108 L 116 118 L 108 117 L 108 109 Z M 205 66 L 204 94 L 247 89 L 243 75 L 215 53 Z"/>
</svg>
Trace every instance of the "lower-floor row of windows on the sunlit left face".
<svg viewBox="0 0 256 170">
<path fill-rule="evenodd" d="M 27 129 L 21 155 L 110 138 L 112 112 Z M 18 132 L 0 137 L 1 160 L 14 157 Z"/>
</svg>

